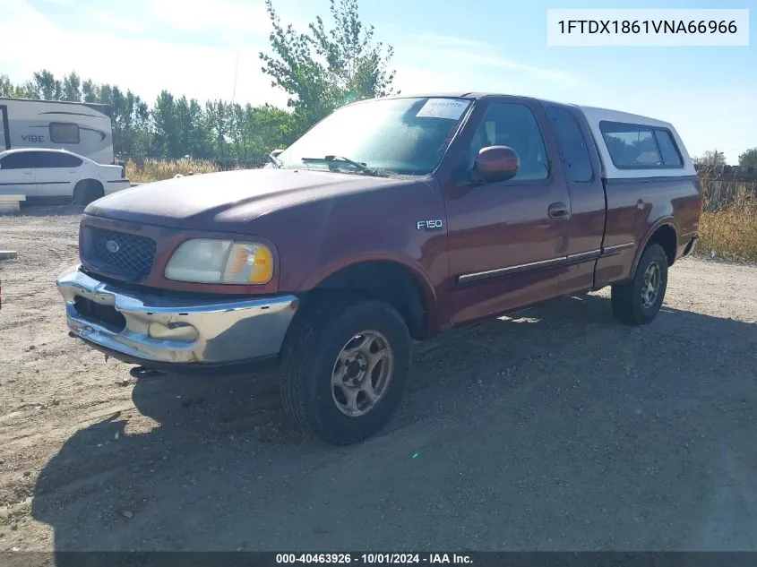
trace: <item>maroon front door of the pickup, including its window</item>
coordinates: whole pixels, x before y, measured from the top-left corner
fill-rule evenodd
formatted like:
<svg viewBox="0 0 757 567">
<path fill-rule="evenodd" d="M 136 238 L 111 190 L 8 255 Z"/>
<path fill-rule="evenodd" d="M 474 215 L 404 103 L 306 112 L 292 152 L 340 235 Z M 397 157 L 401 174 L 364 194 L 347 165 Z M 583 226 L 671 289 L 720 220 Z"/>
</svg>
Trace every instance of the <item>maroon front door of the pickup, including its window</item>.
<svg viewBox="0 0 757 567">
<path fill-rule="evenodd" d="M 444 182 L 452 324 L 553 297 L 566 270 L 570 198 L 554 136 L 540 126 L 544 108 L 518 98 L 479 105 L 466 126 L 472 136 L 462 134 L 460 163 Z M 515 150 L 520 172 L 503 183 L 471 183 L 478 151 L 493 145 Z"/>
</svg>

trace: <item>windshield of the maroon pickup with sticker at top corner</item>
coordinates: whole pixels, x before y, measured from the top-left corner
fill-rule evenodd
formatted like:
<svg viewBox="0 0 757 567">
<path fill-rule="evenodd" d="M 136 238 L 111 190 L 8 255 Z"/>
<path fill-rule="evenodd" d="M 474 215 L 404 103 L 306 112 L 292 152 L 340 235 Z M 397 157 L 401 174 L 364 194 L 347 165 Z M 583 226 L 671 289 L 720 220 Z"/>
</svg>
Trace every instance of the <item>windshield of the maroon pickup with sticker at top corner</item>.
<svg viewBox="0 0 757 567">
<path fill-rule="evenodd" d="M 469 105 L 467 99 L 417 98 L 342 107 L 281 152 L 277 163 L 281 168 L 425 176 L 439 165 Z"/>
</svg>

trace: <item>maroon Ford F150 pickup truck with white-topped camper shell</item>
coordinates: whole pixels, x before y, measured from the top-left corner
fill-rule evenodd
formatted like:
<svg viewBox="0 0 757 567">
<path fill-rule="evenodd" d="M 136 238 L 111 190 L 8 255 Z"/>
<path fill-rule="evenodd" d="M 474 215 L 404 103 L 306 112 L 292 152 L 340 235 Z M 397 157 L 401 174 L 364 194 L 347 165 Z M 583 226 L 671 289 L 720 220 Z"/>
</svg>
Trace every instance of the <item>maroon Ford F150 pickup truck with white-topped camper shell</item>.
<svg viewBox="0 0 757 567">
<path fill-rule="evenodd" d="M 70 334 L 142 373 L 279 365 L 297 425 L 386 424 L 412 341 L 612 287 L 651 322 L 701 185 L 675 128 L 493 94 L 341 107 L 266 168 L 142 185 L 82 214 Z"/>
</svg>

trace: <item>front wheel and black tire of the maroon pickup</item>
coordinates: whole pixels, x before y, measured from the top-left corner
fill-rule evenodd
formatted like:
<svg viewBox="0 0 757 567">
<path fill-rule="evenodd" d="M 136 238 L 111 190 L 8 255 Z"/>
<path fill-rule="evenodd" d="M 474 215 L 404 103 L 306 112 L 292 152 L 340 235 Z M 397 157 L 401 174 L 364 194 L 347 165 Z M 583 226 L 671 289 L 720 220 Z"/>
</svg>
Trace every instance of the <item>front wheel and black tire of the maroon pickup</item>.
<svg viewBox="0 0 757 567">
<path fill-rule="evenodd" d="M 400 403 L 408 326 L 373 299 L 327 296 L 297 314 L 282 352 L 281 399 L 294 423 L 334 445 L 377 433 Z"/>
</svg>

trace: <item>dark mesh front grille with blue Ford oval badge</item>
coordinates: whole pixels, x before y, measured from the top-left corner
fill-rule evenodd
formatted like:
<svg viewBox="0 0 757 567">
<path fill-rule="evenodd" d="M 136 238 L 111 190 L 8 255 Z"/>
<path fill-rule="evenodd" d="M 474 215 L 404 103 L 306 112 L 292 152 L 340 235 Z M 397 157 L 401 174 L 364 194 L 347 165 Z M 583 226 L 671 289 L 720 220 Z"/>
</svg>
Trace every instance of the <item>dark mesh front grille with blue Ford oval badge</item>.
<svg viewBox="0 0 757 567">
<path fill-rule="evenodd" d="M 155 241 L 147 236 L 84 227 L 82 261 L 133 279 L 148 275 L 155 259 Z"/>
</svg>

